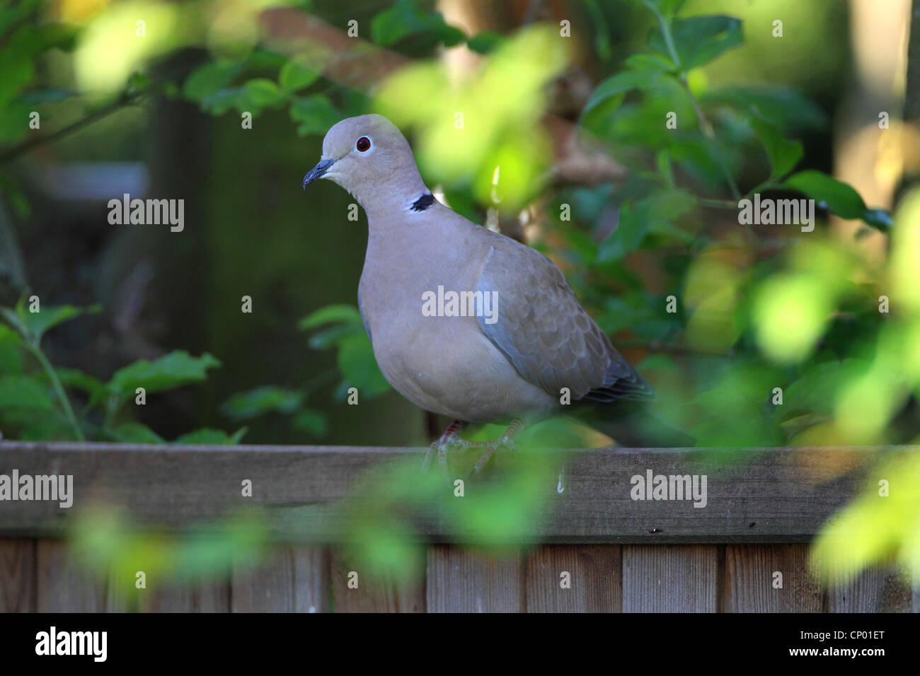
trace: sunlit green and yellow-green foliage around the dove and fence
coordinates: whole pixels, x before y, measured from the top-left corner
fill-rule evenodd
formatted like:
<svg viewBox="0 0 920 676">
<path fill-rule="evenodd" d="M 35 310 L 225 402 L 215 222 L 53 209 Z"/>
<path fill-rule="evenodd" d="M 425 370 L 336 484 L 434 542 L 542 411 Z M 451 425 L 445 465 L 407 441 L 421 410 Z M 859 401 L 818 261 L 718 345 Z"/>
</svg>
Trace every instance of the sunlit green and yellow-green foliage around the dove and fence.
<svg viewBox="0 0 920 676">
<path fill-rule="evenodd" d="M 917 441 L 920 197 L 906 198 L 892 219 L 814 168 L 801 137 L 826 131 L 822 108 L 776 77 L 757 82 L 745 71 L 742 85 L 723 77 L 725 63 L 737 63 L 752 40 L 764 40 L 760 33 L 745 36 L 740 19 L 693 16 L 687 7 L 700 3 L 683 0 L 629 0 L 649 30 L 640 49 L 619 60 L 607 34 L 614 30 L 609 7 L 580 5 L 592 18 L 598 59 L 618 69 L 608 68 L 609 76 L 593 86 L 578 121 L 581 141 L 628 172 L 621 183 L 559 186 L 548 178 L 553 155 L 540 124 L 552 103 L 549 86 L 572 59 L 558 40 L 558 26 L 466 36 L 430 4 L 400 0 L 374 14 L 369 37 L 414 60 L 380 83 L 372 101 L 323 75 L 335 54 L 260 40 L 256 15 L 270 5 L 125 2 L 95 17 L 89 8 L 91 20 L 79 3 L 67 4 L 55 20 L 33 20 L 45 7 L 41 0 L 2 6 L 0 161 L 28 149 L 23 120 L 30 110 L 44 115 L 73 97 L 82 97 L 88 115 L 151 97 L 190 102 L 213 117 L 232 110 L 254 117 L 286 111 L 302 136 L 323 134 L 342 117 L 381 110 L 414 132 L 423 175 L 443 186 L 458 211 L 474 218 L 486 209 L 515 214 L 546 198 L 548 223 L 536 245 L 558 261 L 601 327 L 616 334 L 617 346 L 644 357 L 638 366 L 654 381 L 660 414 L 692 431 L 698 445 L 725 449 L 717 457 L 741 446 Z M 752 11 L 767 16 L 770 4 L 763 5 Z M 807 22 L 811 6 L 790 10 L 788 21 Z M 213 20 L 202 21 L 208 11 Z M 123 27 L 141 14 L 148 17 L 149 39 L 129 39 Z M 434 48 L 465 40 L 484 55 L 465 78 L 455 78 L 440 60 L 427 60 Z M 208 59 L 179 74 L 151 67 L 191 46 L 207 49 Z M 110 59 L 113 51 L 121 58 Z M 36 84 L 34 63 L 42 57 L 53 63 L 60 52 L 73 52 L 82 91 Z M 834 58 L 833 50 L 814 55 L 822 68 Z M 463 143 L 457 142 L 460 131 L 466 131 Z M 0 173 L 4 197 L 26 213 L 17 183 L 12 172 Z M 890 255 L 880 264 L 857 242 L 828 236 L 823 216 L 813 233 L 802 235 L 791 226 L 769 235 L 744 227 L 739 202 L 760 193 L 813 199 L 825 214 L 890 234 Z M 563 206 L 570 218 L 561 217 Z M 880 311 L 881 297 L 890 300 L 890 311 Z M 44 331 L 80 310 L 30 313 L 20 301 L 2 312 L 0 427 L 22 439 L 163 442 L 129 414 L 125 405 L 136 388 L 154 394 L 201 383 L 219 365 L 207 353 L 196 358 L 176 351 L 126 365 L 102 382 L 52 366 L 40 347 Z M 324 385 L 338 382 L 333 396 L 339 401 L 351 388 L 362 401 L 389 389 L 357 308 L 320 308 L 298 327 L 311 333 L 311 348 L 335 351 L 336 369 L 301 387 L 259 384 L 236 392 L 220 407 L 225 418 L 236 424 L 280 416 L 290 429 L 321 437 L 328 420 L 310 400 Z M 75 411 L 73 402 L 82 408 Z M 175 441 L 234 443 L 244 431 L 197 430 Z M 490 427 L 478 434 L 498 436 Z M 415 465 L 369 476 L 351 521 L 358 555 L 390 572 L 411 570 L 418 538 L 408 515 L 426 513 L 442 514 L 457 533 L 480 544 L 516 540 L 543 509 L 538 496 L 546 482 L 557 480 L 558 457 L 536 449 L 586 443 L 583 430 L 561 420 L 527 434 L 513 462 L 499 454 L 494 473 L 502 481 L 484 484 L 465 500 L 454 500 L 435 473 L 420 478 Z M 475 460 L 458 453 L 454 463 L 468 469 Z M 905 461 L 885 472 L 910 476 L 914 470 Z M 915 488 L 906 495 L 857 502 L 844 517 L 857 534 L 834 540 L 839 531 L 833 526 L 820 545 L 822 556 L 849 556 L 848 570 L 884 556 L 915 563 L 918 526 L 904 516 L 915 508 Z M 151 542 L 132 539 L 123 526 L 105 519 L 89 523 L 77 533 L 80 546 L 119 561 L 153 556 Z M 879 524 L 884 528 L 875 528 Z M 102 541 L 124 548 L 95 546 Z M 205 549 L 225 561 L 240 538 L 221 542 L 213 552 Z M 854 542 L 858 546 L 846 555 Z M 172 563 L 161 561 L 162 569 L 178 569 L 176 562 L 184 560 L 179 552 L 185 545 L 174 545 L 168 549 Z"/>
</svg>

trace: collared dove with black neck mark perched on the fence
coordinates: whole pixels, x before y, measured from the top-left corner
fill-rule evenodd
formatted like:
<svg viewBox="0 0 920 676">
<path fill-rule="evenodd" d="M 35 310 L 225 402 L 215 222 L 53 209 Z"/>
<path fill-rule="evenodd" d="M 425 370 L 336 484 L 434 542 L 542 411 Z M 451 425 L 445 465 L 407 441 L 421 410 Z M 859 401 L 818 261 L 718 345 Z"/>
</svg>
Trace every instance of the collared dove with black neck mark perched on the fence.
<svg viewBox="0 0 920 676">
<path fill-rule="evenodd" d="M 358 305 L 380 370 L 416 406 L 454 418 L 426 467 L 432 453 L 445 467 L 449 448 L 475 446 L 484 449 L 480 471 L 524 420 L 565 408 L 567 392 L 582 403 L 653 398 L 556 265 L 437 201 L 385 117 L 334 125 L 304 188 L 317 178 L 348 190 L 367 213 Z M 508 420 L 496 441 L 459 436 L 470 422 Z"/>
</svg>

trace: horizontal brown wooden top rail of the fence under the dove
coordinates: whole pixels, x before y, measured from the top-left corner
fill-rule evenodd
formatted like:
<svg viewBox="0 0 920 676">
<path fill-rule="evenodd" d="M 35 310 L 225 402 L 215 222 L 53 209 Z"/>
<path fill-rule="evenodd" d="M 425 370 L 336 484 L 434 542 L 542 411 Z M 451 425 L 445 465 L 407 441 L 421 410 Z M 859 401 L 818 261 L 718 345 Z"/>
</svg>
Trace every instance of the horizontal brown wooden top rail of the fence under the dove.
<svg viewBox="0 0 920 676">
<path fill-rule="evenodd" d="M 74 475 L 75 507 L 17 500 L 0 510 L 0 534 L 55 536 L 94 496 L 124 507 L 140 524 L 167 530 L 214 521 L 238 507 L 267 507 L 270 533 L 335 543 L 346 529 L 340 498 L 374 466 L 420 457 L 418 449 L 324 446 L 155 446 L 0 442 L 0 466 L 29 474 Z M 548 452 L 547 452 L 548 453 Z M 712 450 L 592 449 L 556 453 L 567 489 L 546 482 L 546 507 L 524 539 L 544 543 L 808 542 L 857 495 L 871 461 L 903 448 L 733 450 L 712 469 Z M 707 474 L 706 509 L 691 500 L 634 500 L 635 475 Z M 827 478 L 831 476 L 832 478 Z M 252 478 L 251 498 L 240 495 Z M 817 480 L 818 478 L 822 480 Z M 360 505 L 359 505 L 360 507 Z M 421 515 L 422 534 L 457 542 L 447 521 Z M 460 542 L 463 542 L 460 536 Z M 512 543 L 509 543 L 512 544 Z"/>
</svg>

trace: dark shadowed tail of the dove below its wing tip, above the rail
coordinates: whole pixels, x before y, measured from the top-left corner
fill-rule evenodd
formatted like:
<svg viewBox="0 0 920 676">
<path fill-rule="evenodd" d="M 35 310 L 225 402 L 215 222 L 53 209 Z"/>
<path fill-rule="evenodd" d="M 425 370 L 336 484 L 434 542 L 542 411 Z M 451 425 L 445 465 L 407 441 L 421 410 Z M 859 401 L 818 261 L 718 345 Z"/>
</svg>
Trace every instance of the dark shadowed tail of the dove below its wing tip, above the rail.
<svg viewBox="0 0 920 676">
<path fill-rule="evenodd" d="M 661 418 L 646 404 L 617 401 L 586 407 L 579 418 L 627 448 L 690 448 L 696 439 Z"/>
</svg>

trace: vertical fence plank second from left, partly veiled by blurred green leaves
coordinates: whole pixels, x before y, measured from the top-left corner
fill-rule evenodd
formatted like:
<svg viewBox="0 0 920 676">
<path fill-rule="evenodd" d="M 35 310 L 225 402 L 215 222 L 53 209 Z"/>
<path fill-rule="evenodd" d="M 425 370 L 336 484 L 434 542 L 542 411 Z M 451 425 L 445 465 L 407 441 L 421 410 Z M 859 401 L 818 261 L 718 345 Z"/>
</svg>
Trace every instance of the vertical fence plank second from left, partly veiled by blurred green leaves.
<svg viewBox="0 0 920 676">
<path fill-rule="evenodd" d="M 80 567 L 62 540 L 38 541 L 35 577 L 39 613 L 104 613 L 109 610 L 107 576 Z"/>
</svg>

